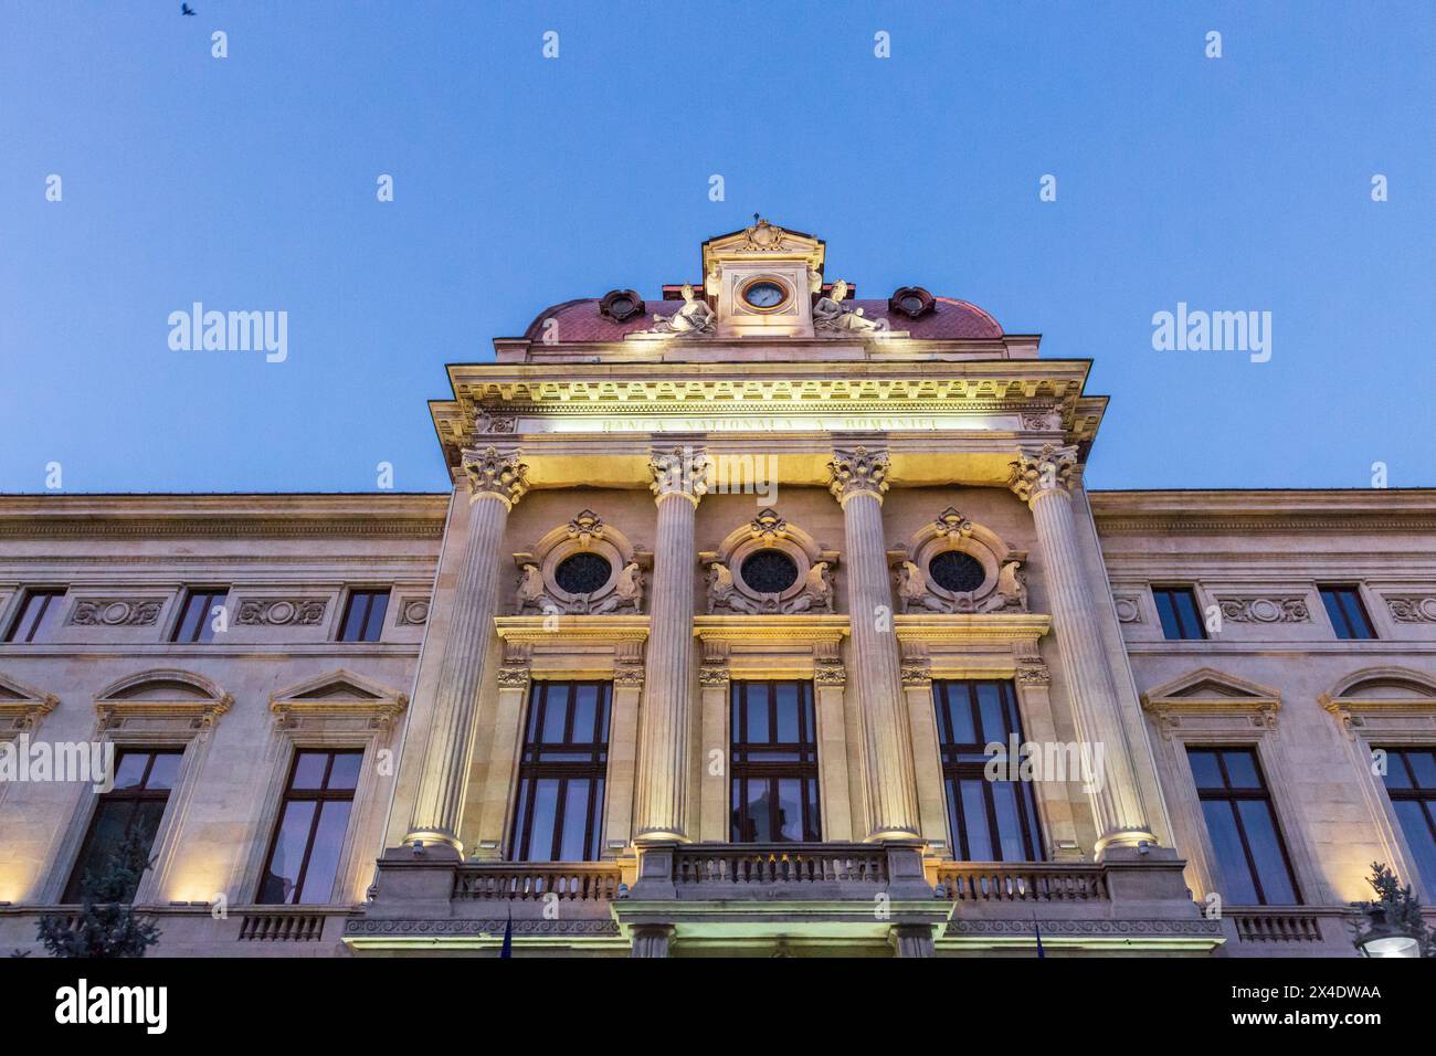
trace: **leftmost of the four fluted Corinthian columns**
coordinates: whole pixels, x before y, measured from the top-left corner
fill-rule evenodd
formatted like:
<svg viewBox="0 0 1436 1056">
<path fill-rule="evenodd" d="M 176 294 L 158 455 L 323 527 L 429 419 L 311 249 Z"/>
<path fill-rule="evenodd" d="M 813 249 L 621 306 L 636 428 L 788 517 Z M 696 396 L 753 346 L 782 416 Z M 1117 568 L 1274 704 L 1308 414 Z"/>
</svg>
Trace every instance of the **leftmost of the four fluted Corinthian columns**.
<svg viewBox="0 0 1436 1056">
<path fill-rule="evenodd" d="M 484 678 L 484 658 L 494 635 L 494 605 L 508 511 L 528 490 L 518 453 L 464 451 L 468 484 L 468 540 L 454 590 L 454 615 L 434 695 L 434 715 L 424 744 L 424 772 L 405 842 L 448 845 L 458 839 L 464 790 L 474 756 L 474 715 Z"/>
</svg>

